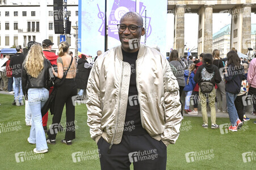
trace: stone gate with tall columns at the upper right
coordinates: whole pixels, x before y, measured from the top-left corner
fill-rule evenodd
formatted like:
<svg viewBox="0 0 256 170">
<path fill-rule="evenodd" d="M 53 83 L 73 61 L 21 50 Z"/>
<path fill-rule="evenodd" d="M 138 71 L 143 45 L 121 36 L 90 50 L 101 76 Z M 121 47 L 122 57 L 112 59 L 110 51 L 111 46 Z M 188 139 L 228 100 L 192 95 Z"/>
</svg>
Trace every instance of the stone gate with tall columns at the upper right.
<svg viewBox="0 0 256 170">
<path fill-rule="evenodd" d="M 167 10 L 174 11 L 174 49 L 180 56 L 184 54 L 184 14 L 197 13 L 198 54 L 212 52 L 212 14 L 229 13 L 232 15 L 230 25 L 230 46 L 236 46 L 241 53 L 247 53 L 251 46 L 251 12 L 256 12 L 256 0 L 226 1 L 176 1 L 167 0 Z M 235 34 L 236 36 L 233 36 Z M 255 44 L 255 42 L 254 42 Z"/>
</svg>

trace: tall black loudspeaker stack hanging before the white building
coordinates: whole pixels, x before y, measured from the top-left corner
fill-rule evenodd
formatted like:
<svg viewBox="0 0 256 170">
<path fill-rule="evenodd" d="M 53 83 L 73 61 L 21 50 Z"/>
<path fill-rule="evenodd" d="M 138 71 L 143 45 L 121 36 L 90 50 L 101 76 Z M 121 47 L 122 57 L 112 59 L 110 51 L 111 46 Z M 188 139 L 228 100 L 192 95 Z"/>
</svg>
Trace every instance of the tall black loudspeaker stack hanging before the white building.
<svg viewBox="0 0 256 170">
<path fill-rule="evenodd" d="M 54 32 L 64 34 L 63 0 L 53 0 Z"/>
</svg>

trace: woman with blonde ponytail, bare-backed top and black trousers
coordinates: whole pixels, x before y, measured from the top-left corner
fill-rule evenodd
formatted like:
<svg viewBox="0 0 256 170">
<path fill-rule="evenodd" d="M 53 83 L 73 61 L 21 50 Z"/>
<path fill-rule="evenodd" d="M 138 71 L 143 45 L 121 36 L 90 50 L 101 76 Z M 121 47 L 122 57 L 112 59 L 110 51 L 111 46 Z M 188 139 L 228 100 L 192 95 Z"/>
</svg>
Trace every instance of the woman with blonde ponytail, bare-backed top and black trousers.
<svg viewBox="0 0 256 170">
<path fill-rule="evenodd" d="M 77 85 L 75 84 L 75 59 L 69 55 L 69 44 L 62 41 L 58 45 L 57 68 L 58 73 L 53 71 L 57 78 L 62 78 L 64 75 L 64 83 L 57 87 L 57 93 L 54 104 L 54 115 L 52 118 L 52 126 L 49 128 L 47 134 L 47 143 L 56 144 L 57 130 L 60 130 L 60 121 L 64 105 L 66 104 L 66 134 L 65 138 L 61 140 L 66 145 L 72 145 L 72 140 L 75 139 L 75 107 L 72 102 L 72 97 L 77 95 Z"/>
</svg>

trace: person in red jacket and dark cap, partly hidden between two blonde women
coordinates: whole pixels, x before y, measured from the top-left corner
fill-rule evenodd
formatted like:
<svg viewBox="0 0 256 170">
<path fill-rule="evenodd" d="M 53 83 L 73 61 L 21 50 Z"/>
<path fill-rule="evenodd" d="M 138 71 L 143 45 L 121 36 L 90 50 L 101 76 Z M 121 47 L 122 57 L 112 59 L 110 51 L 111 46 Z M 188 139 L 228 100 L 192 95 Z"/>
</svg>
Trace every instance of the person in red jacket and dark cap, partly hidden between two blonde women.
<svg viewBox="0 0 256 170">
<path fill-rule="evenodd" d="M 42 42 L 44 56 L 51 62 L 52 66 L 54 67 L 54 65 L 57 66 L 58 56 L 55 53 L 51 52 L 52 45 L 53 45 L 52 41 L 48 39 Z M 49 94 L 51 94 L 52 90 L 53 90 L 53 87 L 50 88 Z M 43 119 L 44 131 L 45 133 L 47 133 L 48 112 L 44 115 L 42 119 Z"/>
</svg>

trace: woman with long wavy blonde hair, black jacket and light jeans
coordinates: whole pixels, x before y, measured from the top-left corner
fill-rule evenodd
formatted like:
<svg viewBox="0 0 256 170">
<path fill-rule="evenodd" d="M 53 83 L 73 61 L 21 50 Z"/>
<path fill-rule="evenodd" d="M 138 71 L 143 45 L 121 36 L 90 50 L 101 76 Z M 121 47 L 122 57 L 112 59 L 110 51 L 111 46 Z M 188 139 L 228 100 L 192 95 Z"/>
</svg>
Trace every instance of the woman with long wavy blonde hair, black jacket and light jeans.
<svg viewBox="0 0 256 170">
<path fill-rule="evenodd" d="M 36 144 L 35 153 L 48 152 L 41 107 L 49 97 L 47 90 L 51 63 L 45 58 L 41 45 L 31 46 L 22 67 L 22 90 L 32 113 L 32 126 L 27 141 Z"/>
</svg>

